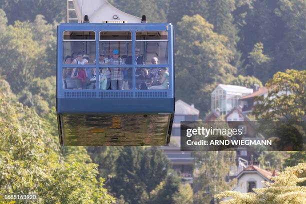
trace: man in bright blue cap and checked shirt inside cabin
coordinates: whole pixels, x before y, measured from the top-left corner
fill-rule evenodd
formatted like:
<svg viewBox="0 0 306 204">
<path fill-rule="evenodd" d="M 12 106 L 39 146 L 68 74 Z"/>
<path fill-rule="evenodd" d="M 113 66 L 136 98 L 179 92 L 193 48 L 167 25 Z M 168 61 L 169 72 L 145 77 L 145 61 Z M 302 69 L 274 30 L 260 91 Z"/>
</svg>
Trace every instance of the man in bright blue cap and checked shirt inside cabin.
<svg viewBox="0 0 306 204">
<path fill-rule="evenodd" d="M 109 59 L 109 64 L 124 64 L 124 60 L 119 57 L 119 50 L 114 49 L 112 51 L 112 58 Z M 110 87 L 112 90 L 122 90 L 123 89 L 123 74 L 122 68 L 113 67 L 111 68 L 111 82 Z"/>
</svg>

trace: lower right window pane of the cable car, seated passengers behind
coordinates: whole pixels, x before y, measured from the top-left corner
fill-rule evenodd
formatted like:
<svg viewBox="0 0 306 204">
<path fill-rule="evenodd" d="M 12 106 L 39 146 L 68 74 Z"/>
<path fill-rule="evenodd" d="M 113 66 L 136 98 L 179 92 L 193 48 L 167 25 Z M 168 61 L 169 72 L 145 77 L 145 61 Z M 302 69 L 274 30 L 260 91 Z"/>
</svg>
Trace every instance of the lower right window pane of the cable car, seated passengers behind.
<svg viewBox="0 0 306 204">
<path fill-rule="evenodd" d="M 135 70 L 137 89 L 168 89 L 169 69 L 167 67 L 137 67 Z"/>
</svg>

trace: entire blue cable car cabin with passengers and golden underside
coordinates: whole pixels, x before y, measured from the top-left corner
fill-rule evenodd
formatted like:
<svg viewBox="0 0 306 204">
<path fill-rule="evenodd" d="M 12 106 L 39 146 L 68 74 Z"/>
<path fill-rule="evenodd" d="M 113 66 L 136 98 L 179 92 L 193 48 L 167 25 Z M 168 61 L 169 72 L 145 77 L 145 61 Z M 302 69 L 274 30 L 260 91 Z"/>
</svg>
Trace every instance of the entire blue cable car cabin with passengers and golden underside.
<svg viewBox="0 0 306 204">
<path fill-rule="evenodd" d="M 56 113 L 61 145 L 166 145 L 174 115 L 170 23 L 62 23 Z"/>
</svg>

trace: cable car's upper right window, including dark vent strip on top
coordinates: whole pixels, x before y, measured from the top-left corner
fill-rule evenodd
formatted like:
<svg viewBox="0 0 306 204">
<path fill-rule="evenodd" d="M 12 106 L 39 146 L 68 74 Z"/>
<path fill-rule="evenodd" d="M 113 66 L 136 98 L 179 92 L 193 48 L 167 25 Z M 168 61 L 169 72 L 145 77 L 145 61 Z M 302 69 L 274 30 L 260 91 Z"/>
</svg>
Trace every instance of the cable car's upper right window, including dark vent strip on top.
<svg viewBox="0 0 306 204">
<path fill-rule="evenodd" d="M 168 32 L 167 31 L 137 31 L 136 52 L 143 57 L 144 64 L 168 63 Z M 135 53 L 137 56 L 137 53 Z"/>
</svg>

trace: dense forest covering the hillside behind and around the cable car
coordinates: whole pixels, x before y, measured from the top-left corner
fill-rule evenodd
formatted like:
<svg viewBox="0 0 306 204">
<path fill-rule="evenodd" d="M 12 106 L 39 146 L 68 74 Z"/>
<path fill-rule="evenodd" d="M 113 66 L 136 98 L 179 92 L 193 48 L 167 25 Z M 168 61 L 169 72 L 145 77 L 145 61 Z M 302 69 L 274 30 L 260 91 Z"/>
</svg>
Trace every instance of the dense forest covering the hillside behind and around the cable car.
<svg viewBox="0 0 306 204">
<path fill-rule="evenodd" d="M 304 117 L 305 0 L 109 2 L 145 14 L 149 22 L 174 24 L 175 97 L 194 103 L 201 117 L 210 111 L 210 92 L 219 83 L 293 84 L 296 97 L 276 102 L 283 112 L 296 110 L 292 117 Z M 232 152 L 194 153 L 201 165 L 194 177 L 199 191 L 193 194 L 158 148 L 59 146 L 56 25 L 65 19 L 65 3 L 0 0 L 0 194 L 33 192 L 37 203 L 208 203 L 230 189 L 224 177 L 234 162 Z M 264 102 L 257 117 L 270 114 L 275 101 Z M 285 154 L 267 152 L 259 159 L 277 160 L 278 168 L 305 162 L 304 153 Z M 216 181 L 219 187 L 205 194 Z"/>
</svg>

